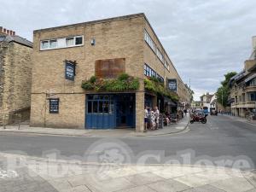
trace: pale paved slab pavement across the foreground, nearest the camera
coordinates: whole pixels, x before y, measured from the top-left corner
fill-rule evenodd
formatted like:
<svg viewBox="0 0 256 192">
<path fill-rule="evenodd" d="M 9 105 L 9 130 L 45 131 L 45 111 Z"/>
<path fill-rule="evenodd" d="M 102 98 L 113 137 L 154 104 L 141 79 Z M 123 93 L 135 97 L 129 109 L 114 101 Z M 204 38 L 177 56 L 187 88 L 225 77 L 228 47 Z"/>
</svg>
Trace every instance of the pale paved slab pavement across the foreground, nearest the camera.
<svg viewBox="0 0 256 192">
<path fill-rule="evenodd" d="M 4 153 L 0 162 L 1 192 L 256 191 L 256 172 L 216 166 L 88 164 Z"/>
</svg>

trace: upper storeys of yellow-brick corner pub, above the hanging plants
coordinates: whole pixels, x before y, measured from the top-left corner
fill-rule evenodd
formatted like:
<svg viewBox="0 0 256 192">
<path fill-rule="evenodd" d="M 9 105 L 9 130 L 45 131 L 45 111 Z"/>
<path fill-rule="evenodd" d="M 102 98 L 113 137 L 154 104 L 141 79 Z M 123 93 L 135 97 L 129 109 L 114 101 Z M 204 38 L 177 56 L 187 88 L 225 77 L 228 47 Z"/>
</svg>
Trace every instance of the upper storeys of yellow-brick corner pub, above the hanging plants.
<svg viewBox="0 0 256 192">
<path fill-rule="evenodd" d="M 112 73 L 128 73 L 141 79 L 142 90 L 145 76 L 155 77 L 166 85 L 167 79 L 176 79 L 177 94 L 184 97 L 184 101 L 189 96 L 144 14 L 57 26 L 33 33 L 32 93 L 82 92 L 83 80 L 93 75 L 108 78 L 109 74 L 104 73 L 108 66 Z M 76 65 L 72 82 L 64 78 L 66 61 Z"/>
</svg>

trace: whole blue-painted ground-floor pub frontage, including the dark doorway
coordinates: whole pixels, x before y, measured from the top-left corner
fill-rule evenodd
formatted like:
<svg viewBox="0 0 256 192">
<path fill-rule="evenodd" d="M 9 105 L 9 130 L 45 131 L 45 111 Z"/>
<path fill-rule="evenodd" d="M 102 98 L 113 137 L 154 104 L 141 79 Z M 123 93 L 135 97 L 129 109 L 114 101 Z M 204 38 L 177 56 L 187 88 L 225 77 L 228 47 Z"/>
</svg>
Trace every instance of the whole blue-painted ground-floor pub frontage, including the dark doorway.
<svg viewBox="0 0 256 192">
<path fill-rule="evenodd" d="M 135 94 L 86 96 L 86 129 L 135 127 Z"/>
</svg>

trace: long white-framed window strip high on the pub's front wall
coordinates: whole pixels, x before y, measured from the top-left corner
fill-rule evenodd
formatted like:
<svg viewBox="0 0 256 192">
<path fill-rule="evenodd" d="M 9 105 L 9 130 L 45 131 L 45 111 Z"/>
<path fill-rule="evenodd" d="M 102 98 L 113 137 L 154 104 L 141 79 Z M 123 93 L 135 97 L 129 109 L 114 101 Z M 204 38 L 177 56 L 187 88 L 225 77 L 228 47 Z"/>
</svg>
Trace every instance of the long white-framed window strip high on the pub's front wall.
<svg viewBox="0 0 256 192">
<path fill-rule="evenodd" d="M 84 44 L 84 36 L 56 38 L 41 41 L 40 50 L 76 47 Z"/>
</svg>

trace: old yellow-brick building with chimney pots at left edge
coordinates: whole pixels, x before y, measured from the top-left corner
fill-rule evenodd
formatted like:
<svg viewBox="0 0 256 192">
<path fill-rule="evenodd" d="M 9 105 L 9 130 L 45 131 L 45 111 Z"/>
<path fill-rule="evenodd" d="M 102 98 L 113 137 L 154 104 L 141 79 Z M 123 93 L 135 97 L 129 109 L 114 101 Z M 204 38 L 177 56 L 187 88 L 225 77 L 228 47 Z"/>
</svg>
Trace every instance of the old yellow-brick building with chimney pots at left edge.
<svg viewBox="0 0 256 192">
<path fill-rule="evenodd" d="M 28 119 L 32 42 L 0 27 L 0 124 Z"/>
</svg>

